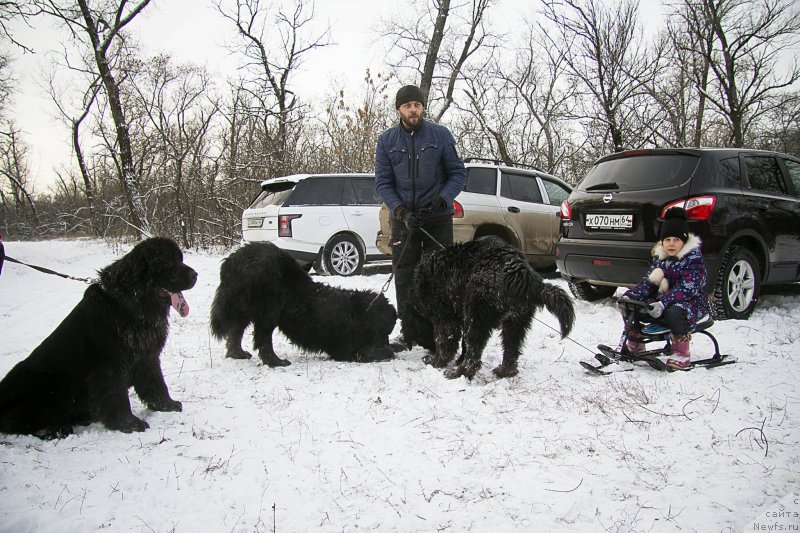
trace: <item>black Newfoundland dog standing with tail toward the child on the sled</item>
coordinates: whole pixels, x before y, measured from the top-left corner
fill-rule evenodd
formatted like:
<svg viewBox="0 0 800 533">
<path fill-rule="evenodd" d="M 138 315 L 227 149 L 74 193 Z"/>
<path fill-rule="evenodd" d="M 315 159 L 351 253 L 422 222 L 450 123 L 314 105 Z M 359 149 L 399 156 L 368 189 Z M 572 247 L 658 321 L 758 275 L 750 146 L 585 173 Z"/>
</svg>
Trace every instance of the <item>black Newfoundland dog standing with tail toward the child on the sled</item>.
<svg viewBox="0 0 800 533">
<path fill-rule="evenodd" d="M 503 336 L 499 377 L 517 374 L 525 335 L 537 309 L 547 307 L 558 318 L 562 338 L 569 334 L 575 311 L 569 295 L 545 283 L 525 257 L 499 239 L 456 244 L 424 257 L 414 277 L 417 311 L 433 323 L 436 351 L 426 362 L 437 368 L 462 353 L 448 378 L 472 379 L 494 329 Z"/>
</svg>

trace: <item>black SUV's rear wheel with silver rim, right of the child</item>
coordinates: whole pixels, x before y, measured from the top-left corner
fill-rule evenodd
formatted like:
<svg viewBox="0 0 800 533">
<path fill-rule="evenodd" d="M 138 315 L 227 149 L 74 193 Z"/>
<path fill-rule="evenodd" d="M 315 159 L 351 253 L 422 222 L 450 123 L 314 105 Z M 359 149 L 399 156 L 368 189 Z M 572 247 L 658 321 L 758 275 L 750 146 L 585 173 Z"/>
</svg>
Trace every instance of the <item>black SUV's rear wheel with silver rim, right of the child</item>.
<svg viewBox="0 0 800 533">
<path fill-rule="evenodd" d="M 756 308 L 761 292 L 761 273 L 755 256 L 731 246 L 722 258 L 711 310 L 717 320 L 745 320 Z"/>
</svg>

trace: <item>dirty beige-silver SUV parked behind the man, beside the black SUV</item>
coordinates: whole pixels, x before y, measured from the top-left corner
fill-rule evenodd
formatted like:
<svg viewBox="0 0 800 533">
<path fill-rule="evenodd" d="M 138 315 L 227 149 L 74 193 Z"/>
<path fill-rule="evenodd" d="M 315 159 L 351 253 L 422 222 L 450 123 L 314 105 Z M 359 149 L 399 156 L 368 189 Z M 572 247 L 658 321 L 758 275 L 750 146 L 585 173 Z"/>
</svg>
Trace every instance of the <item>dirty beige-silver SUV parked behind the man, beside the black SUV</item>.
<svg viewBox="0 0 800 533">
<path fill-rule="evenodd" d="M 560 206 L 572 192 L 567 183 L 520 164 L 466 159 L 467 181 L 453 202 L 453 240 L 500 237 L 521 250 L 539 270 L 555 270 Z M 381 207 L 377 248 L 391 253 L 389 211 Z"/>
</svg>

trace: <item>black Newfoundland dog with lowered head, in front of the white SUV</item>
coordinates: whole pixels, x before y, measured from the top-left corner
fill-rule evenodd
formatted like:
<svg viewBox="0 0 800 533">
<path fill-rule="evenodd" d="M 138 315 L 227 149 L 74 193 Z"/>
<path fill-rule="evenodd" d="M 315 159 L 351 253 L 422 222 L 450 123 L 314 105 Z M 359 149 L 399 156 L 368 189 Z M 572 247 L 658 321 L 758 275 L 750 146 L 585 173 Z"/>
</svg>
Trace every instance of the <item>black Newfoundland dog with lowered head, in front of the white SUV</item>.
<svg viewBox="0 0 800 533">
<path fill-rule="evenodd" d="M 242 335 L 253 324 L 253 347 L 271 367 L 291 364 L 275 354 L 279 328 L 295 345 L 337 361 L 390 359 L 397 313 L 383 294 L 317 283 L 272 243 L 249 243 L 227 257 L 211 306 L 211 331 L 225 339 L 226 356 L 249 359 Z"/>
</svg>

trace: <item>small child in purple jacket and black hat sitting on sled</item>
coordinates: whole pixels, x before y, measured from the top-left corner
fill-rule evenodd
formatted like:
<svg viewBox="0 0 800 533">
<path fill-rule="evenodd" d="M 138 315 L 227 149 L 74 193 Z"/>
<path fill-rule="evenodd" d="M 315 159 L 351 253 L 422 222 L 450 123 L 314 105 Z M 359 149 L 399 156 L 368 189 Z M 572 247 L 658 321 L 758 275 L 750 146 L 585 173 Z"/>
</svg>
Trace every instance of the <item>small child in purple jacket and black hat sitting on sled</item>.
<svg viewBox="0 0 800 533">
<path fill-rule="evenodd" d="M 672 354 L 667 366 L 684 370 L 689 367 L 691 332 L 699 318 L 709 313 L 705 294 L 706 267 L 700 253 L 700 239 L 689 233 L 686 211 L 673 207 L 664 214 L 659 242 L 653 247 L 650 270 L 638 285 L 623 295 L 649 303 L 647 313 L 670 329 Z M 628 332 L 627 348 L 631 354 L 645 347 Z"/>
</svg>

